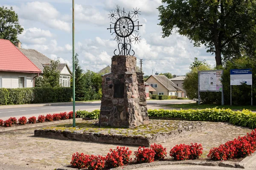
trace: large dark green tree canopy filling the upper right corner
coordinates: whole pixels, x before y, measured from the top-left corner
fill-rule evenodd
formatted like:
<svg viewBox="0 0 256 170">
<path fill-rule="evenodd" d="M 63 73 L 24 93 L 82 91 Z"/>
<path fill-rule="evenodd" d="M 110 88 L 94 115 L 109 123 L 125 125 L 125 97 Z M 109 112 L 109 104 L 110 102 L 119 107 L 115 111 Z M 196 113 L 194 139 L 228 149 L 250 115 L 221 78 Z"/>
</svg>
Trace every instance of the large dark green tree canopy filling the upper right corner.
<svg viewBox="0 0 256 170">
<path fill-rule="evenodd" d="M 256 51 L 256 0 L 162 0 L 158 8 L 163 37 L 175 30 L 204 44 L 215 53 L 216 65 L 222 58 L 247 55 Z M 174 29 L 176 28 L 176 29 Z"/>
</svg>

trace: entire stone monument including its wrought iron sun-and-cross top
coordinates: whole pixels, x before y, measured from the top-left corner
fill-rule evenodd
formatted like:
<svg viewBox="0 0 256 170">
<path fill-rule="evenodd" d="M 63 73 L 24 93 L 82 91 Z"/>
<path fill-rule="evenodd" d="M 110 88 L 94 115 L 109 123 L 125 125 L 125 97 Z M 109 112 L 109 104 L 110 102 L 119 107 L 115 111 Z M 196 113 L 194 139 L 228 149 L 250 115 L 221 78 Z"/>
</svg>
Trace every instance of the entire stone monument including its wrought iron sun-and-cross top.
<svg viewBox="0 0 256 170">
<path fill-rule="evenodd" d="M 119 54 L 112 57 L 111 73 L 102 76 L 102 102 L 100 108 L 99 125 L 112 127 L 134 128 L 148 124 L 148 109 L 146 103 L 143 73 L 136 72 L 137 58 L 134 51 L 131 55 L 131 43 L 140 41 L 139 27 L 135 26 L 132 18 L 138 17 L 139 9 L 125 12 L 116 6 L 116 10 L 110 12 L 110 19 L 116 20 L 110 32 L 114 29 L 119 42 Z M 134 28 L 137 27 L 137 30 Z M 122 43 L 123 42 L 123 43 Z"/>
</svg>

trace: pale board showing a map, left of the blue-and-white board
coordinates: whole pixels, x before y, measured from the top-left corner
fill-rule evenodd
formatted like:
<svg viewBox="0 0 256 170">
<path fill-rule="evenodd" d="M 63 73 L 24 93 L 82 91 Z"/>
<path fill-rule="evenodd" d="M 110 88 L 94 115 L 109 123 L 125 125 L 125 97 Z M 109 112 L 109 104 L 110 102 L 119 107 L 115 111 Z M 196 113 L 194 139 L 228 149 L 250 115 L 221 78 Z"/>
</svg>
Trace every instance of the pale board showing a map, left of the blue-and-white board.
<svg viewBox="0 0 256 170">
<path fill-rule="evenodd" d="M 222 70 L 198 71 L 198 91 L 222 91 Z"/>
</svg>

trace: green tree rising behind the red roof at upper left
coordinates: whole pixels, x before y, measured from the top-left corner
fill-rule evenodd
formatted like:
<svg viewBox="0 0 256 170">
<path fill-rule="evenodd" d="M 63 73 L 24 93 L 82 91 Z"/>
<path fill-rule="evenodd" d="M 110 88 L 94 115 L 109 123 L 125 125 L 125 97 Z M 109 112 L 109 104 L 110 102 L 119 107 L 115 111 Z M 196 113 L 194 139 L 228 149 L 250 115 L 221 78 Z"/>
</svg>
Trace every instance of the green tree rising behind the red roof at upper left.
<svg viewBox="0 0 256 170">
<path fill-rule="evenodd" d="M 18 41 L 17 35 L 23 32 L 18 15 L 12 7 L 0 7 L 0 39 L 10 40 L 13 44 Z"/>
</svg>

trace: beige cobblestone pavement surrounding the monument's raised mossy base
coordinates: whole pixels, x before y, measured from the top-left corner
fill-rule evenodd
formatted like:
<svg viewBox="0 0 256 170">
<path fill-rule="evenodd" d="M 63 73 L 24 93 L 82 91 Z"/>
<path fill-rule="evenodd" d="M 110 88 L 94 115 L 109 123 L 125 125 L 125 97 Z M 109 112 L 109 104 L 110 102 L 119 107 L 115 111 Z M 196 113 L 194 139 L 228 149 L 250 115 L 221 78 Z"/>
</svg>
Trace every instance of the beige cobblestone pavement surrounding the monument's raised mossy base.
<svg viewBox="0 0 256 170">
<path fill-rule="evenodd" d="M 205 130 L 162 143 L 162 145 L 167 148 L 169 153 L 169 150 L 176 144 L 201 143 L 204 147 L 203 156 L 206 157 L 210 148 L 218 147 L 219 144 L 224 144 L 238 136 L 244 136 L 250 131 L 249 128 L 233 126 L 228 123 L 205 122 Z M 137 146 L 128 147 L 132 151 L 138 148 Z M 22 166 L 24 169 L 29 167 L 53 170 L 69 164 L 72 154 L 75 152 L 105 156 L 110 148 L 116 148 L 116 144 L 34 137 L 34 129 L 0 133 L 0 162 Z M 170 158 L 169 154 L 168 158 Z"/>
</svg>

